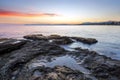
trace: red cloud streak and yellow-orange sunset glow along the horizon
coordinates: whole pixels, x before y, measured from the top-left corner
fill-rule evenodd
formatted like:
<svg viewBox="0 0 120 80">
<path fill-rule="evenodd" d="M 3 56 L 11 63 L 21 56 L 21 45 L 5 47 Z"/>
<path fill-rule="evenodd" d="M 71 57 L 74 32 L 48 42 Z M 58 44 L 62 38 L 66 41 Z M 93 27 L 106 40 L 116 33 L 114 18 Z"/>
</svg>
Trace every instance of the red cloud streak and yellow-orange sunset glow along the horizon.
<svg viewBox="0 0 120 80">
<path fill-rule="evenodd" d="M 22 13 L 0 10 L 0 23 L 9 24 L 80 24 L 83 22 L 107 21 L 109 18 L 84 18 L 55 13 Z"/>
</svg>

